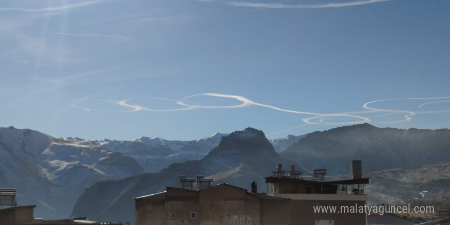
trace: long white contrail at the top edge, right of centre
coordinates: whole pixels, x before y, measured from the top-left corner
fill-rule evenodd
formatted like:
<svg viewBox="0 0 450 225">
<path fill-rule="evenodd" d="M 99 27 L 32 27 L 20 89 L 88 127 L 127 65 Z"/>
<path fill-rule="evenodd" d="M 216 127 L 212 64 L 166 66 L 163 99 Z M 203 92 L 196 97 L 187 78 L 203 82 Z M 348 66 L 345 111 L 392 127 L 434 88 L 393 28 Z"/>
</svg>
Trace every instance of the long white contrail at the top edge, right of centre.
<svg viewBox="0 0 450 225">
<path fill-rule="evenodd" d="M 199 2 L 216 2 L 212 0 L 197 0 Z M 354 1 L 354 2 L 345 2 L 345 3 L 324 3 L 324 4 L 312 4 L 312 5 L 304 5 L 304 4 L 278 4 L 278 3 L 253 3 L 253 2 L 220 2 L 229 6 L 238 6 L 238 7 L 251 7 L 251 8 L 267 8 L 267 9 L 323 9 L 323 8 L 340 8 L 340 7 L 349 7 L 349 6 L 361 6 L 368 5 L 374 3 L 381 2 L 389 2 L 392 0 L 366 0 L 366 1 Z M 219 3 L 219 2 L 216 2 Z"/>
</svg>

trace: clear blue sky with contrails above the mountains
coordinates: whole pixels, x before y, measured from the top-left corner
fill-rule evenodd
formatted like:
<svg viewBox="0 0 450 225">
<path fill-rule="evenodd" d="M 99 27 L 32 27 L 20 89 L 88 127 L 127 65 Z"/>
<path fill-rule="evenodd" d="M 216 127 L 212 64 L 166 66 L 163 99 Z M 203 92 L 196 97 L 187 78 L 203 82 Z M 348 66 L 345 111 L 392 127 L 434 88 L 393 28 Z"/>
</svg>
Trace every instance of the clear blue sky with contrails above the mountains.
<svg viewBox="0 0 450 225">
<path fill-rule="evenodd" d="M 117 140 L 249 126 L 269 139 L 362 122 L 449 128 L 449 9 L 445 0 L 5 0 L 0 126 Z"/>
</svg>

